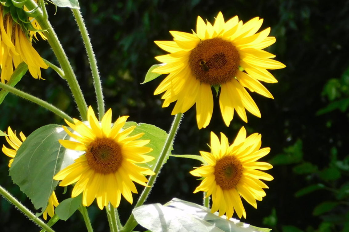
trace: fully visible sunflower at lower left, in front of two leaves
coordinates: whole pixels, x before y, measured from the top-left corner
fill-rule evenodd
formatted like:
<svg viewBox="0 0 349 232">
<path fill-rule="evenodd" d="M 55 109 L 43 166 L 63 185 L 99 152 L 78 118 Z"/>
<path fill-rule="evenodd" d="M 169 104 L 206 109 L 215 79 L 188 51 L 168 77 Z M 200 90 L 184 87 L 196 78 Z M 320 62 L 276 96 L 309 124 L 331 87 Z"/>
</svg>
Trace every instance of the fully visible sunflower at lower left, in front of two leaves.
<svg viewBox="0 0 349 232">
<path fill-rule="evenodd" d="M 77 142 L 70 140 L 59 142 L 67 149 L 85 153 L 53 178 L 62 180 L 60 186 L 76 182 L 72 197 L 77 197 L 83 192 L 84 206 L 91 205 L 96 198 L 100 209 L 109 202 L 116 208 L 120 203 L 120 194 L 132 204 L 131 192 L 137 193 L 133 182 L 147 186 L 148 180 L 144 175 L 155 174 L 148 168 L 136 165 L 154 159 L 150 155 L 145 155 L 153 150 L 144 146 L 150 141 L 138 140 L 144 133 L 128 136 L 135 128 L 132 126 L 122 129 L 128 116 L 118 118 L 114 124 L 111 123 L 111 118 L 112 111 L 109 109 L 99 123 L 90 106 L 87 125 L 77 119 L 74 119 L 74 124 L 66 121 L 79 135 L 63 127 Z"/>
</svg>

